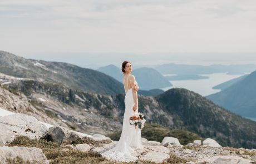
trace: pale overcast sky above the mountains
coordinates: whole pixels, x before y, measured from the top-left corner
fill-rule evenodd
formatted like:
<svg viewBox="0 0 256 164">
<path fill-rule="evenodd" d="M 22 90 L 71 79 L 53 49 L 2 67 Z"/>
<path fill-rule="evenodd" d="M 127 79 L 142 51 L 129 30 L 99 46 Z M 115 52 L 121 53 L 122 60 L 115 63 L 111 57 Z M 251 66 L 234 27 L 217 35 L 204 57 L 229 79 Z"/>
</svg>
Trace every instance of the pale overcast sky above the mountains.
<svg viewBox="0 0 256 164">
<path fill-rule="evenodd" d="M 1 0 L 0 49 L 96 68 L 256 63 L 255 0 Z"/>
</svg>

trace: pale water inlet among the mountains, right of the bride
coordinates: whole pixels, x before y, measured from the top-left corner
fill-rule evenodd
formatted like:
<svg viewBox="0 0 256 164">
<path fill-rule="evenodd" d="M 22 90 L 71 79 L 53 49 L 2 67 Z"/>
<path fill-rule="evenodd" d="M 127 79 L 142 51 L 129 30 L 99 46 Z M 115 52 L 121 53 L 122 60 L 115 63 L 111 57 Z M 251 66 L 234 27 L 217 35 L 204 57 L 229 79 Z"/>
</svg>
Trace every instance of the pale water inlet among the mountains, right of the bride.
<svg viewBox="0 0 256 164">
<path fill-rule="evenodd" d="M 208 79 L 196 79 L 196 80 L 180 80 L 170 81 L 173 86 L 161 88 L 161 90 L 167 91 L 170 88 L 186 88 L 187 90 L 199 93 L 202 96 L 208 96 L 213 93 L 220 92 L 220 90 L 214 90 L 212 87 L 219 85 L 220 83 L 229 81 L 230 79 L 237 78 L 243 74 L 227 74 L 227 73 L 212 73 L 212 74 L 199 74 L 201 76 L 208 76 Z M 170 76 L 170 75 L 169 75 Z"/>
</svg>

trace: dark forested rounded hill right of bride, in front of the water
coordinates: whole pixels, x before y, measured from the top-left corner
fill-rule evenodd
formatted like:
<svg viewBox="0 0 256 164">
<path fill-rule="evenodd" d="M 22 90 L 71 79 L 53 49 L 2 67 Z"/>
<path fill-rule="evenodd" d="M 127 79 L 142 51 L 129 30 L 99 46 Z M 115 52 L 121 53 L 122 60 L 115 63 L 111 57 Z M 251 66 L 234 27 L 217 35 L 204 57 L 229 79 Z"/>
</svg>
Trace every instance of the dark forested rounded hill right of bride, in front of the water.
<svg viewBox="0 0 256 164">
<path fill-rule="evenodd" d="M 173 88 L 156 101 L 172 116 L 174 128 L 215 138 L 222 146 L 256 147 L 256 122 L 224 110 L 198 93 Z"/>
</svg>

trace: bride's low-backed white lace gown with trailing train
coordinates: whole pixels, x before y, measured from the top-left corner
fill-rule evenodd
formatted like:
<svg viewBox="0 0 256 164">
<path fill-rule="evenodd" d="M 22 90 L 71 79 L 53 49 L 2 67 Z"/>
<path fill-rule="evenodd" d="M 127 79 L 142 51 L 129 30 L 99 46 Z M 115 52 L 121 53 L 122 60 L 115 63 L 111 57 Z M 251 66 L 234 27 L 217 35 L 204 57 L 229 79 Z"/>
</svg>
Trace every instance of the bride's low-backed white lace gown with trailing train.
<svg viewBox="0 0 256 164">
<path fill-rule="evenodd" d="M 136 150 L 144 148 L 141 143 L 140 128 L 138 126 L 135 128 L 135 125 L 130 125 L 129 123 L 129 119 L 134 112 L 132 107 L 134 107 L 134 98 L 132 89 L 130 89 L 125 95 L 125 114 L 121 137 L 115 147 L 102 153 L 102 156 L 106 157 L 107 160 L 133 162 L 137 160 L 135 156 Z M 135 112 L 138 112 L 138 109 Z"/>
</svg>

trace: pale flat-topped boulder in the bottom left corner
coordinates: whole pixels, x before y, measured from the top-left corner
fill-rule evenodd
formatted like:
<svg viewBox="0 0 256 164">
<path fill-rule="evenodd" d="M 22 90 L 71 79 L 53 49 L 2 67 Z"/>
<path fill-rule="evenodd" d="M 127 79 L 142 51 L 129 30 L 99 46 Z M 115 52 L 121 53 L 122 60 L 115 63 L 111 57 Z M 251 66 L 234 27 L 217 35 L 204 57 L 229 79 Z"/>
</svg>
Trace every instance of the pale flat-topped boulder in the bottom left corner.
<svg viewBox="0 0 256 164">
<path fill-rule="evenodd" d="M 37 147 L 0 147 L 0 161 L 2 164 L 17 163 L 17 161 L 12 161 L 16 158 L 22 159 L 24 163 L 49 163 L 42 150 Z"/>
</svg>

